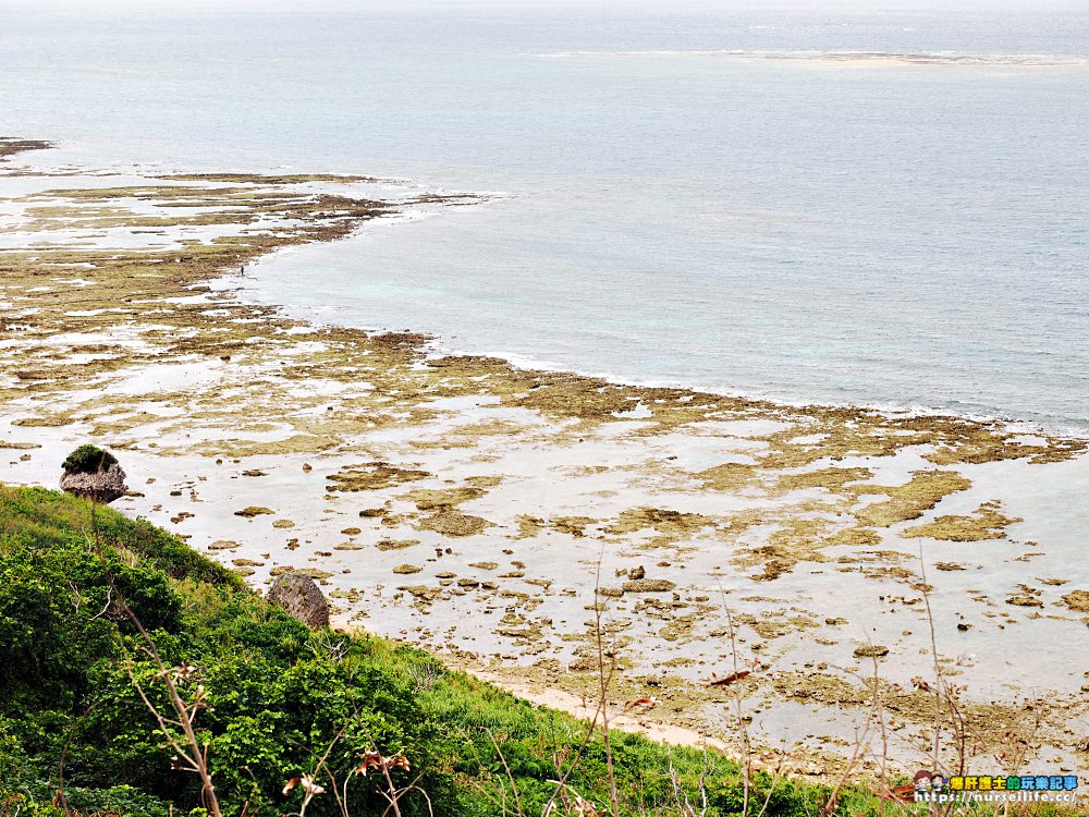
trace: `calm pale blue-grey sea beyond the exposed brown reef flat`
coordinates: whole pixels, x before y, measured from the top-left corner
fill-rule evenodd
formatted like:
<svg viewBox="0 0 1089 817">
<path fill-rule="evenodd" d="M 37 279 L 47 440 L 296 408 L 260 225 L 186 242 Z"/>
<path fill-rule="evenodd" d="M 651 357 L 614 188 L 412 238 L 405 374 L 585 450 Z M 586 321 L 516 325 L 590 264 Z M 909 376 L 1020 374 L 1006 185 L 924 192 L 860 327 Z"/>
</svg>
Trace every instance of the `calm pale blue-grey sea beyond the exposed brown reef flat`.
<svg viewBox="0 0 1089 817">
<path fill-rule="evenodd" d="M 0 132 L 503 194 L 259 265 L 323 320 L 1089 432 L 1077 10 L 0 2 Z"/>
</svg>

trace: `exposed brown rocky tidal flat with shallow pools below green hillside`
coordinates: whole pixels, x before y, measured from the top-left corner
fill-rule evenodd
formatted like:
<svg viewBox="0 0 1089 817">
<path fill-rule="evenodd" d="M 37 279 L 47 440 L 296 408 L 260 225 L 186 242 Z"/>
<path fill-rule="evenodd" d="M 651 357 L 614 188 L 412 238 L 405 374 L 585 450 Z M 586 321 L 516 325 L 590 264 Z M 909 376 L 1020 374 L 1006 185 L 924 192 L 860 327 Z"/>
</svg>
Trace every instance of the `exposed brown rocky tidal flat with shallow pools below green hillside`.
<svg viewBox="0 0 1089 817">
<path fill-rule="evenodd" d="M 1086 440 L 291 319 L 241 296 L 262 256 L 475 197 L 16 163 L 46 147 L 0 142 L 0 480 L 52 487 L 95 442 L 120 510 L 257 587 L 301 570 L 341 626 L 554 705 L 607 664 L 615 709 L 656 702 L 628 725 L 669 740 L 735 747 L 741 693 L 802 773 L 842 766 L 874 702 L 865 768 L 925 756 L 933 636 L 972 754 L 1089 769 Z"/>
</svg>

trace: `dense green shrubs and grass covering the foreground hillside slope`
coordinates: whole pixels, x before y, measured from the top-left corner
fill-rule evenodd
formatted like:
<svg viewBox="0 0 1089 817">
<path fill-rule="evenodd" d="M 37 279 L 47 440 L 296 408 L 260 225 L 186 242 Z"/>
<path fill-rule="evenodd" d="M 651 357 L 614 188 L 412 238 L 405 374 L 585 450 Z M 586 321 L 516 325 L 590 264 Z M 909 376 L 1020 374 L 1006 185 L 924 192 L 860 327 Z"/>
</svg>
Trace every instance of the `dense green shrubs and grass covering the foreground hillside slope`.
<svg viewBox="0 0 1089 817">
<path fill-rule="evenodd" d="M 291 778 L 317 772 L 331 790 L 329 772 L 343 784 L 369 751 L 407 760 L 408 770 L 390 771 L 396 786 L 418 786 L 399 803 L 406 816 L 428 814 L 428 800 L 435 815 L 514 814 L 516 803 L 540 815 L 556 791 L 549 781 L 568 771 L 571 792 L 599 808 L 610 800 L 599 733 L 576 763 L 587 724 L 417 649 L 310 632 L 147 522 L 105 508 L 93 522 L 83 500 L 0 486 L 0 815 L 59 815 L 62 772 L 68 807 L 84 815 L 205 814 L 198 777 L 172 769 L 176 753 L 137 695 L 135 683 L 175 717 L 117 594 L 167 667 L 178 668 L 182 695 L 206 695 L 195 725 L 224 815 L 241 815 L 247 801 L 250 815 L 297 812 L 302 786 L 282 793 Z M 742 810 L 741 772 L 721 755 L 616 732 L 611 752 L 622 814 L 687 814 L 671 769 L 680 796 L 694 803 L 706 781 L 707 815 Z M 816 815 L 829 795 L 824 786 L 770 785 L 757 775 L 754 815 L 766 797 L 768 815 Z M 383 814 L 383 791 L 374 769 L 353 776 L 348 814 Z M 873 807 L 858 792 L 841 798 L 843 814 Z M 327 791 L 306 813 L 340 810 Z M 570 803 L 556 812 L 575 813 Z"/>
</svg>

